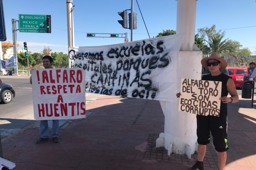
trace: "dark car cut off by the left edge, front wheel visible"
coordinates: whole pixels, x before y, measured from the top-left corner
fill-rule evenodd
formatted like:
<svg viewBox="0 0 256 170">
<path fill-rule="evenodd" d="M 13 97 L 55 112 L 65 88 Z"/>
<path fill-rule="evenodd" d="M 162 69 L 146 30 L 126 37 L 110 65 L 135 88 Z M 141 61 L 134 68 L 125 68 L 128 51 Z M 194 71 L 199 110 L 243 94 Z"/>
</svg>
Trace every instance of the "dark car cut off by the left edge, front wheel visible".
<svg viewBox="0 0 256 170">
<path fill-rule="evenodd" d="M 13 87 L 6 83 L 0 84 L 0 102 L 3 104 L 10 103 L 15 97 Z"/>
</svg>

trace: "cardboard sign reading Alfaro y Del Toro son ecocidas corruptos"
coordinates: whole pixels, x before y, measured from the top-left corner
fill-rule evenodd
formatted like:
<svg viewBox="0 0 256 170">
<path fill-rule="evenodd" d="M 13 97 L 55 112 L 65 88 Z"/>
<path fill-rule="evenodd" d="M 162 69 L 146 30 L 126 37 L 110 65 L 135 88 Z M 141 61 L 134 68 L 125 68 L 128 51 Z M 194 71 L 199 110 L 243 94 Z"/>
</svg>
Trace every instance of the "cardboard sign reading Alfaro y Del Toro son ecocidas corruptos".
<svg viewBox="0 0 256 170">
<path fill-rule="evenodd" d="M 219 116 L 222 82 L 181 79 L 179 111 Z"/>
</svg>

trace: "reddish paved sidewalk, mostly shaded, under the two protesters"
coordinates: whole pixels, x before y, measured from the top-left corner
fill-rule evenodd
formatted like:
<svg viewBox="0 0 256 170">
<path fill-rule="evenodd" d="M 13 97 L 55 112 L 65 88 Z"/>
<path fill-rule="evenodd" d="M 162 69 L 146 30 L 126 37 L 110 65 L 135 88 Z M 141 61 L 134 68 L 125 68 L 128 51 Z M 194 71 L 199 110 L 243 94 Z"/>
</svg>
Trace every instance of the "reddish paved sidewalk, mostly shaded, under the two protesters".
<svg viewBox="0 0 256 170">
<path fill-rule="evenodd" d="M 226 170 L 256 170 L 256 109 L 250 100 L 228 104 Z M 93 112 L 59 130 L 60 142 L 37 144 L 38 129 L 29 129 L 2 143 L 3 156 L 16 163 L 15 170 L 187 170 L 197 154 L 167 155 L 155 148 L 164 130 L 158 101 L 103 96 L 86 105 Z M 51 134 L 51 130 L 49 130 Z M 217 170 L 217 154 L 210 143 L 205 170 Z"/>
</svg>

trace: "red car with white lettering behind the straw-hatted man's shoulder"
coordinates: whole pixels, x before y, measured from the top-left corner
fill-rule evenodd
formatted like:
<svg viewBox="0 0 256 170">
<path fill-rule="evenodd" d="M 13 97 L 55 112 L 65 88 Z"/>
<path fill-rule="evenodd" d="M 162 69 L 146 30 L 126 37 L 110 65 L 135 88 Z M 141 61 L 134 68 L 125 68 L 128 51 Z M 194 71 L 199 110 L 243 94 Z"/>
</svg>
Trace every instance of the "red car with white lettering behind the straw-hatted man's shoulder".
<svg viewBox="0 0 256 170">
<path fill-rule="evenodd" d="M 242 87 L 242 84 L 245 82 L 244 73 L 247 72 L 246 68 L 227 68 L 229 76 L 232 77 L 232 80 L 235 83 L 236 87 Z"/>
</svg>

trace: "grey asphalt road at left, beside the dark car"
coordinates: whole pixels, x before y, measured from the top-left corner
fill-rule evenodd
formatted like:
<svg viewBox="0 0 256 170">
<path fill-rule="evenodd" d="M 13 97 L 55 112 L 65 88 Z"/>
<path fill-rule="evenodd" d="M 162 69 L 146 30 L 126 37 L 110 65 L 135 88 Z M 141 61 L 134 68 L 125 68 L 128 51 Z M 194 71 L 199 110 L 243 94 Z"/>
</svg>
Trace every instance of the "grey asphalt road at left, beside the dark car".
<svg viewBox="0 0 256 170">
<path fill-rule="evenodd" d="M 3 76 L 3 83 L 13 86 L 16 96 L 11 103 L 0 104 L 0 133 L 1 138 L 9 136 L 37 122 L 34 120 L 32 85 L 27 74 L 20 76 Z M 86 93 L 86 103 L 96 100 L 103 95 Z"/>
</svg>

